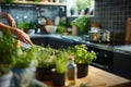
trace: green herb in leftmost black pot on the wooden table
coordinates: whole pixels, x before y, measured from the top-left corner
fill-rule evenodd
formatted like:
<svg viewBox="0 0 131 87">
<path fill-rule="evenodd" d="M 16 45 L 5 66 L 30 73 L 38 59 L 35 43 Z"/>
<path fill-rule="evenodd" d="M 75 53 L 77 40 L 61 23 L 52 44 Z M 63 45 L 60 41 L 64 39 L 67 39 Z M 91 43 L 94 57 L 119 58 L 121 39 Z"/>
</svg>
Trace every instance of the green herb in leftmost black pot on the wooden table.
<svg viewBox="0 0 131 87">
<path fill-rule="evenodd" d="M 53 53 L 55 49 L 50 48 L 39 48 L 38 66 L 36 69 L 36 78 L 39 80 L 51 79 L 51 69 L 55 67 Z"/>
</svg>

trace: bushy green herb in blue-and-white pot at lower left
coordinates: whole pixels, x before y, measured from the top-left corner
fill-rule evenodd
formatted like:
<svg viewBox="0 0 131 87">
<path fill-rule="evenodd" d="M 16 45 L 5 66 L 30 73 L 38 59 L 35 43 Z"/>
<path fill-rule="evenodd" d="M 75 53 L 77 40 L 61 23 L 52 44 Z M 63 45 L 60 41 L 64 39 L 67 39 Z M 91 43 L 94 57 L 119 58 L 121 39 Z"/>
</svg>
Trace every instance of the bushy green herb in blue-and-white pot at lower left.
<svg viewBox="0 0 131 87">
<path fill-rule="evenodd" d="M 12 71 L 17 78 L 16 86 L 28 86 L 37 66 L 37 49 L 35 46 L 22 48 L 19 41 L 15 42 L 15 46 L 17 52 L 12 60 Z"/>
</svg>

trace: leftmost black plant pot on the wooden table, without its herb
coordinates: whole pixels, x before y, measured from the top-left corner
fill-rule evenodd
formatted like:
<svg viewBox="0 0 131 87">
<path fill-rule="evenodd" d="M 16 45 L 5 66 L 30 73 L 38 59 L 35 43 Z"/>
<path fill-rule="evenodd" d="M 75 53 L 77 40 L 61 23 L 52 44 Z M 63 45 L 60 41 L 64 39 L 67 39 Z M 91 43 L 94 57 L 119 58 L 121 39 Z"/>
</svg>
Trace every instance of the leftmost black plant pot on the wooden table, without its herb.
<svg viewBox="0 0 131 87">
<path fill-rule="evenodd" d="M 52 67 L 37 67 L 36 69 L 36 78 L 39 80 L 49 80 L 52 78 L 51 73 Z"/>
</svg>

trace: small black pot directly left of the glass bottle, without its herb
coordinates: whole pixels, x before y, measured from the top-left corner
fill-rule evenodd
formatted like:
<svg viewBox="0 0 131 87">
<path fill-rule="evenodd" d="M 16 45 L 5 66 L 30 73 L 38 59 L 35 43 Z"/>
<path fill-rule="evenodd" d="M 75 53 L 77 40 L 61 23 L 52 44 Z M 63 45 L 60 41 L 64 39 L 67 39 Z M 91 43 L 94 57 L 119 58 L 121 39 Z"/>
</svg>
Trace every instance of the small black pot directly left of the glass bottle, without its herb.
<svg viewBox="0 0 131 87">
<path fill-rule="evenodd" d="M 56 71 L 52 72 L 52 84 L 56 87 L 61 87 L 64 86 L 64 82 L 66 82 L 66 75 L 64 73 L 57 73 Z"/>
</svg>

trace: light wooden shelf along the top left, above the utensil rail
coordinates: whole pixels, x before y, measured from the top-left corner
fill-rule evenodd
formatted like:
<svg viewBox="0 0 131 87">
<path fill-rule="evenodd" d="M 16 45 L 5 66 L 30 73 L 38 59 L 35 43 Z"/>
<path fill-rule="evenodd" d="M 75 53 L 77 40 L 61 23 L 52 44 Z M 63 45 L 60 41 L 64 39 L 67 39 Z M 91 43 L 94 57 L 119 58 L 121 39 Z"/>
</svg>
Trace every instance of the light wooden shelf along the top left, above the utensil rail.
<svg viewBox="0 0 131 87">
<path fill-rule="evenodd" d="M 34 1 L 13 1 L 13 3 L 19 4 L 39 4 L 39 5 L 56 5 L 56 7 L 66 7 L 66 3 L 56 3 L 56 2 L 34 2 Z"/>
</svg>

